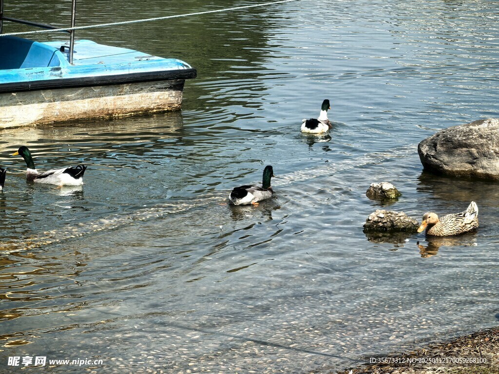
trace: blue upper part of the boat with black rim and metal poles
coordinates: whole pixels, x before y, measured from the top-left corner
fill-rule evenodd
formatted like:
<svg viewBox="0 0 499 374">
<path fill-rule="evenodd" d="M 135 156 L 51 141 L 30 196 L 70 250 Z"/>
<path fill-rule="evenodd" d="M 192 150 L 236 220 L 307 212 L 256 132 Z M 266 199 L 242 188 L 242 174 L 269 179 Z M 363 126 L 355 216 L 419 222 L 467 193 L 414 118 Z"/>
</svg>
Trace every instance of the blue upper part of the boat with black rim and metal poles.
<svg viewBox="0 0 499 374">
<path fill-rule="evenodd" d="M 75 3 L 72 0 L 71 27 Z M 0 0 L 0 34 L 3 21 L 58 29 L 59 27 L 6 17 Z M 159 80 L 195 78 L 189 64 L 151 56 L 133 49 L 97 44 L 91 40 L 38 42 L 12 35 L 0 35 L 0 94 L 51 88 L 87 87 Z"/>
</svg>

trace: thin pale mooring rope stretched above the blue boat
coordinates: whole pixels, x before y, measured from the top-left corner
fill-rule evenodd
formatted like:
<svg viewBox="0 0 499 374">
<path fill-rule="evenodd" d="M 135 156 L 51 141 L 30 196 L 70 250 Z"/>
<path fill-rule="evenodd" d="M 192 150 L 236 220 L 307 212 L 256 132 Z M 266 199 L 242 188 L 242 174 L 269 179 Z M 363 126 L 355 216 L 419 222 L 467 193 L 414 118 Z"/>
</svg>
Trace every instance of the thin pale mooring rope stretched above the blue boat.
<svg viewBox="0 0 499 374">
<path fill-rule="evenodd" d="M 224 9 L 216 9 L 216 10 L 205 10 L 199 11 L 195 13 L 187 13 L 187 14 L 176 14 L 176 15 L 167 15 L 164 17 L 154 17 L 154 18 L 144 18 L 144 19 L 135 19 L 133 21 L 122 21 L 122 22 L 112 22 L 112 23 L 101 23 L 95 25 L 87 25 L 87 26 L 76 26 L 76 27 L 65 27 L 65 28 L 57 28 L 50 30 L 36 30 L 36 31 L 23 31 L 23 32 L 9 32 L 5 34 L 0 34 L 0 36 L 14 36 L 14 35 L 26 35 L 26 34 L 41 34 L 46 32 L 55 32 L 55 31 L 70 31 L 70 30 L 83 30 L 86 28 L 96 28 L 96 27 L 107 27 L 107 26 L 118 26 L 122 24 L 130 24 L 130 23 L 139 23 L 139 22 L 149 22 L 149 21 L 159 21 L 162 19 L 169 18 L 180 18 L 180 17 L 188 17 L 191 15 L 200 15 L 200 14 L 208 14 L 208 13 L 220 13 L 224 11 L 232 11 L 232 10 L 240 10 L 247 8 L 254 8 L 257 6 L 266 6 L 266 5 L 274 5 L 274 4 L 283 4 L 285 2 L 293 2 L 299 0 L 280 0 L 280 1 L 270 1 L 270 2 L 262 2 L 261 4 L 252 4 L 252 5 L 244 5 L 244 6 L 236 6 L 234 8 L 224 8 Z"/>
</svg>

